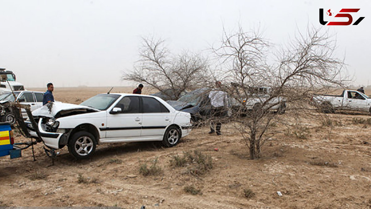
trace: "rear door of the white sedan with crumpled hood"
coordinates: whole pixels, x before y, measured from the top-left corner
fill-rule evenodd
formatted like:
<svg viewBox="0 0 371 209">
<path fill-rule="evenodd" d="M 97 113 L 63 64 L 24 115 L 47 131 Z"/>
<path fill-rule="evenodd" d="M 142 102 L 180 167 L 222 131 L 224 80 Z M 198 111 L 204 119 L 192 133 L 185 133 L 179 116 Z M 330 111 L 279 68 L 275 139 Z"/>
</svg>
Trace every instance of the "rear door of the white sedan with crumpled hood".
<svg viewBox="0 0 371 209">
<path fill-rule="evenodd" d="M 153 97 L 142 99 L 142 135 L 144 140 L 161 140 L 165 128 L 170 125 L 170 111 Z"/>
</svg>

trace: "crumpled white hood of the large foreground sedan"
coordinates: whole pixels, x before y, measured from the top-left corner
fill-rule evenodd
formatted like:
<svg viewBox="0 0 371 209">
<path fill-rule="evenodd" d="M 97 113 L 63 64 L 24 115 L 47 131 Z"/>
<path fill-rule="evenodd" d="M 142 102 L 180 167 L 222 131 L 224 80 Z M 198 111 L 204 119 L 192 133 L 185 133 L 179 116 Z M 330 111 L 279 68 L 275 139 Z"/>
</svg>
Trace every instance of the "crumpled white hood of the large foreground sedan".
<svg viewBox="0 0 371 209">
<path fill-rule="evenodd" d="M 72 110 L 81 110 L 81 111 L 89 111 L 89 112 L 98 112 L 95 108 L 86 107 L 82 105 L 76 104 L 69 104 L 63 102 L 50 102 L 39 109 L 32 111 L 33 116 L 44 116 L 44 117 L 55 117 L 58 113 L 62 111 L 72 111 Z M 82 112 L 83 113 L 83 112 Z"/>
</svg>

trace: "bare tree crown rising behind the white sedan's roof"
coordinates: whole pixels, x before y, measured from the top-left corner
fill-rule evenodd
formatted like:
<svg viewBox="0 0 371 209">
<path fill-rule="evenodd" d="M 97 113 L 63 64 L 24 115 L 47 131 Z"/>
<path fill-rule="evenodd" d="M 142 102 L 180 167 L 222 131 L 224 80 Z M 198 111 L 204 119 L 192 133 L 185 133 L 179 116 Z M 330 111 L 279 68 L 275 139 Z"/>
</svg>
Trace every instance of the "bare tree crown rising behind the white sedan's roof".
<svg viewBox="0 0 371 209">
<path fill-rule="evenodd" d="M 203 79 L 208 78 L 207 59 L 201 55 L 188 51 L 173 55 L 161 39 L 142 40 L 139 50 L 141 59 L 134 66 L 134 71 L 124 73 L 123 80 L 143 82 L 176 100 L 181 92 L 197 88 Z"/>
</svg>

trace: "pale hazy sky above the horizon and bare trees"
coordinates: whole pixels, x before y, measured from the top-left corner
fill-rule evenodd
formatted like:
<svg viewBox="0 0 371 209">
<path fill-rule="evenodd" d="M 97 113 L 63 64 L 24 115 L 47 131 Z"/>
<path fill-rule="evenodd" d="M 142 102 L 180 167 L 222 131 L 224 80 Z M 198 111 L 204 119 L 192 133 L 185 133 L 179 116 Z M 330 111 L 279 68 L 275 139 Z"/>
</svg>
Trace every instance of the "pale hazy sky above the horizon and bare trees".
<svg viewBox="0 0 371 209">
<path fill-rule="evenodd" d="M 120 81 L 138 59 L 142 36 L 165 39 L 173 52 L 201 52 L 218 43 L 222 27 L 260 28 L 284 44 L 297 29 L 324 27 L 336 36 L 356 84 L 371 85 L 371 1 L 267 0 L 0 0 L 0 67 L 26 88 L 131 85 Z M 322 26 L 319 8 L 360 8 L 357 26 Z M 326 16 L 325 21 L 334 17 Z M 336 18 L 346 21 L 347 18 Z"/>
</svg>

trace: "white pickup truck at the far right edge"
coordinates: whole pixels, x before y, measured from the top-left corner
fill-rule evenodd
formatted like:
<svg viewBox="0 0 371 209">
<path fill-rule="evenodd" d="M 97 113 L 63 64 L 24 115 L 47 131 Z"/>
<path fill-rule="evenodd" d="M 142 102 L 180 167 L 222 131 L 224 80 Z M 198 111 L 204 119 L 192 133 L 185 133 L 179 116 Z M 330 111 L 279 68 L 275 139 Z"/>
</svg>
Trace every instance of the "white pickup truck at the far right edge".
<svg viewBox="0 0 371 209">
<path fill-rule="evenodd" d="M 344 90 L 341 95 L 313 95 L 310 104 L 325 113 L 335 110 L 371 112 L 371 98 L 354 90 Z"/>
</svg>

